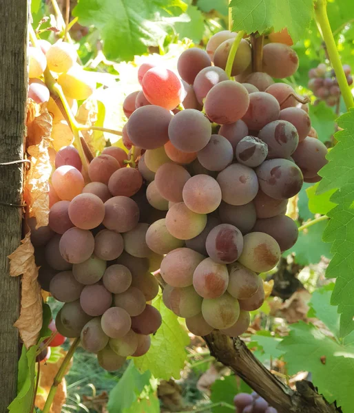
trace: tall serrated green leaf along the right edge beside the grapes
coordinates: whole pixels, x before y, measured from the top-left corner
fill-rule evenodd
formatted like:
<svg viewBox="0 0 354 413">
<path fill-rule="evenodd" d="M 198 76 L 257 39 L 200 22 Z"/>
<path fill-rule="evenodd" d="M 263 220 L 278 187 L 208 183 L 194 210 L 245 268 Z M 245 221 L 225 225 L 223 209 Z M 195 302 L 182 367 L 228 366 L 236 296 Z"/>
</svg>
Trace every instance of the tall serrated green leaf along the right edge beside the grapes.
<svg viewBox="0 0 354 413">
<path fill-rule="evenodd" d="M 326 277 L 337 279 L 331 304 L 338 306 L 340 335 L 344 337 L 354 330 L 354 109 L 340 116 L 337 123 L 343 130 L 335 134 L 337 145 L 329 151 L 329 163 L 320 171 L 323 178 L 317 193 L 336 189 L 330 200 L 337 206 L 327 214 L 331 219 L 323 240 L 333 242 L 333 259 L 326 270 Z"/>
</svg>

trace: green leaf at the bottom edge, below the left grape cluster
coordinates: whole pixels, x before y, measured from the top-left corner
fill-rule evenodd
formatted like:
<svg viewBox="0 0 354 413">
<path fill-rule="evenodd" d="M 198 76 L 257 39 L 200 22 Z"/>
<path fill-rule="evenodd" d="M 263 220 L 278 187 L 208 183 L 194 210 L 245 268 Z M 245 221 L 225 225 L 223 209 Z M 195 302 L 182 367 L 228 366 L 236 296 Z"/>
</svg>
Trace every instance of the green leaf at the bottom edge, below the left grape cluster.
<svg viewBox="0 0 354 413">
<path fill-rule="evenodd" d="M 157 381 L 149 371 L 140 373 L 131 361 L 123 376 L 110 392 L 110 413 L 158 413 Z"/>
</svg>

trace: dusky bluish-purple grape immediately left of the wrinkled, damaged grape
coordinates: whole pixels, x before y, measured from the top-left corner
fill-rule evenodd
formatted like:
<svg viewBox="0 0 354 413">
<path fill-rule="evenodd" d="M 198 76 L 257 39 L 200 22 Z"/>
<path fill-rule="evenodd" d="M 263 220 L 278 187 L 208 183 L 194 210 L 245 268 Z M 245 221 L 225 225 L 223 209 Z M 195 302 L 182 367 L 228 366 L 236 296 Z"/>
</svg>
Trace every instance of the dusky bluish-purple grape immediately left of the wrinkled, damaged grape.
<svg viewBox="0 0 354 413">
<path fill-rule="evenodd" d="M 198 152 L 198 160 L 209 171 L 222 171 L 233 160 L 232 145 L 221 135 L 211 135 L 209 143 Z"/>
</svg>

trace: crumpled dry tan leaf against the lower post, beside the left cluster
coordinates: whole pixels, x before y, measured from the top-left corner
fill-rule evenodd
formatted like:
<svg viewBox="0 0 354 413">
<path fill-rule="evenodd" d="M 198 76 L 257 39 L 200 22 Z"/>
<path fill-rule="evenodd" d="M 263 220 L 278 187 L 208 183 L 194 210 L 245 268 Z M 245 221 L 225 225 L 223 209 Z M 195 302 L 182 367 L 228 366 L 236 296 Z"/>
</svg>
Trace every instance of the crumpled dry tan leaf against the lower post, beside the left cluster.
<svg viewBox="0 0 354 413">
<path fill-rule="evenodd" d="M 14 324 L 19 329 L 26 348 L 37 344 L 42 327 L 42 296 L 38 284 L 38 269 L 34 261 L 34 248 L 30 232 L 21 240 L 21 245 L 9 255 L 10 275 L 22 276 L 20 317 Z"/>
</svg>

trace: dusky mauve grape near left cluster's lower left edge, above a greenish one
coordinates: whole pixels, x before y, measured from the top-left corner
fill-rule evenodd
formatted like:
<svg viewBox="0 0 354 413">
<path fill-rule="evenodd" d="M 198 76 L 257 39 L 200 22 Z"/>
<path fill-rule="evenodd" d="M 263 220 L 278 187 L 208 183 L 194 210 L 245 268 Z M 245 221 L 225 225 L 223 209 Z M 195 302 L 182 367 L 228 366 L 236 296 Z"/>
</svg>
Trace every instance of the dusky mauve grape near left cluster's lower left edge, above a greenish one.
<svg viewBox="0 0 354 413">
<path fill-rule="evenodd" d="M 72 271 L 62 271 L 54 275 L 50 282 L 50 293 L 58 301 L 70 303 L 80 298 L 83 284 L 72 275 Z"/>
</svg>

